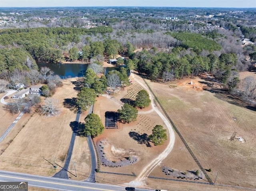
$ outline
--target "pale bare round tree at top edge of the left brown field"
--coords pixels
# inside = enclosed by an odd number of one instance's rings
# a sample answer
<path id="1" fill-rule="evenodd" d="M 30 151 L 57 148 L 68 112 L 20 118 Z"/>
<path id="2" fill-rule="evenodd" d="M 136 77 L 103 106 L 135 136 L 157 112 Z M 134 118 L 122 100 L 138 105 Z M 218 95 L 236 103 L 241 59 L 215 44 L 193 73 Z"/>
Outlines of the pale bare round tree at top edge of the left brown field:
<path id="1" fill-rule="evenodd" d="M 53 98 L 46 98 L 44 104 L 40 108 L 40 113 L 47 116 L 54 116 L 58 114 L 59 108 L 57 100 Z"/>

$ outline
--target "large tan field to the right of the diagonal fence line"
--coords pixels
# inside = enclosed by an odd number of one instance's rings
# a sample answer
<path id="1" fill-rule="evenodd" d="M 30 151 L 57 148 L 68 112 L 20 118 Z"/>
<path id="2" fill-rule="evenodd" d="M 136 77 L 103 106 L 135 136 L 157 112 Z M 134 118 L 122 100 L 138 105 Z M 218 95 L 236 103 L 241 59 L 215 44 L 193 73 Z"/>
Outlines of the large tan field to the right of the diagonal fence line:
<path id="1" fill-rule="evenodd" d="M 220 95 L 211 93 L 204 79 L 192 81 L 199 87 L 194 89 L 190 79 L 169 84 L 147 82 L 202 166 L 212 169 L 208 175 L 213 181 L 218 172 L 216 183 L 255 188 L 256 112 L 222 100 Z M 230 140 L 234 134 L 234 140 Z M 186 163 L 181 164 L 172 153 L 163 164 L 186 170 Z"/>

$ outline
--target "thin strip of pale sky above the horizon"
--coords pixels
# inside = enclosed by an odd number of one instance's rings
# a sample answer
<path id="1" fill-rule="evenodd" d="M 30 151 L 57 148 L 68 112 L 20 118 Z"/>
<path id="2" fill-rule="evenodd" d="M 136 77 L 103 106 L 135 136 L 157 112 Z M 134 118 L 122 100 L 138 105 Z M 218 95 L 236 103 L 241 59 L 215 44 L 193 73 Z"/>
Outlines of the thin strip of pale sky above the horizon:
<path id="1" fill-rule="evenodd" d="M 0 0 L 0 7 L 157 6 L 255 8 L 256 0 Z"/>

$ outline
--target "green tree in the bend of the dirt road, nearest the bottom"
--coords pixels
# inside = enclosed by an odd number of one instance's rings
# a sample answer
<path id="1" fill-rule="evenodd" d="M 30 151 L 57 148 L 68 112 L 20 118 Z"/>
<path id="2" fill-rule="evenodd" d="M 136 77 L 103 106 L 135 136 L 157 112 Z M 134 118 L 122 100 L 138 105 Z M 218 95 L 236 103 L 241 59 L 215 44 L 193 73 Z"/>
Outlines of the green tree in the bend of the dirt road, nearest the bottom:
<path id="1" fill-rule="evenodd" d="M 156 125 L 149 138 L 155 146 L 164 144 L 164 141 L 167 140 L 166 129 L 162 125 Z"/>

